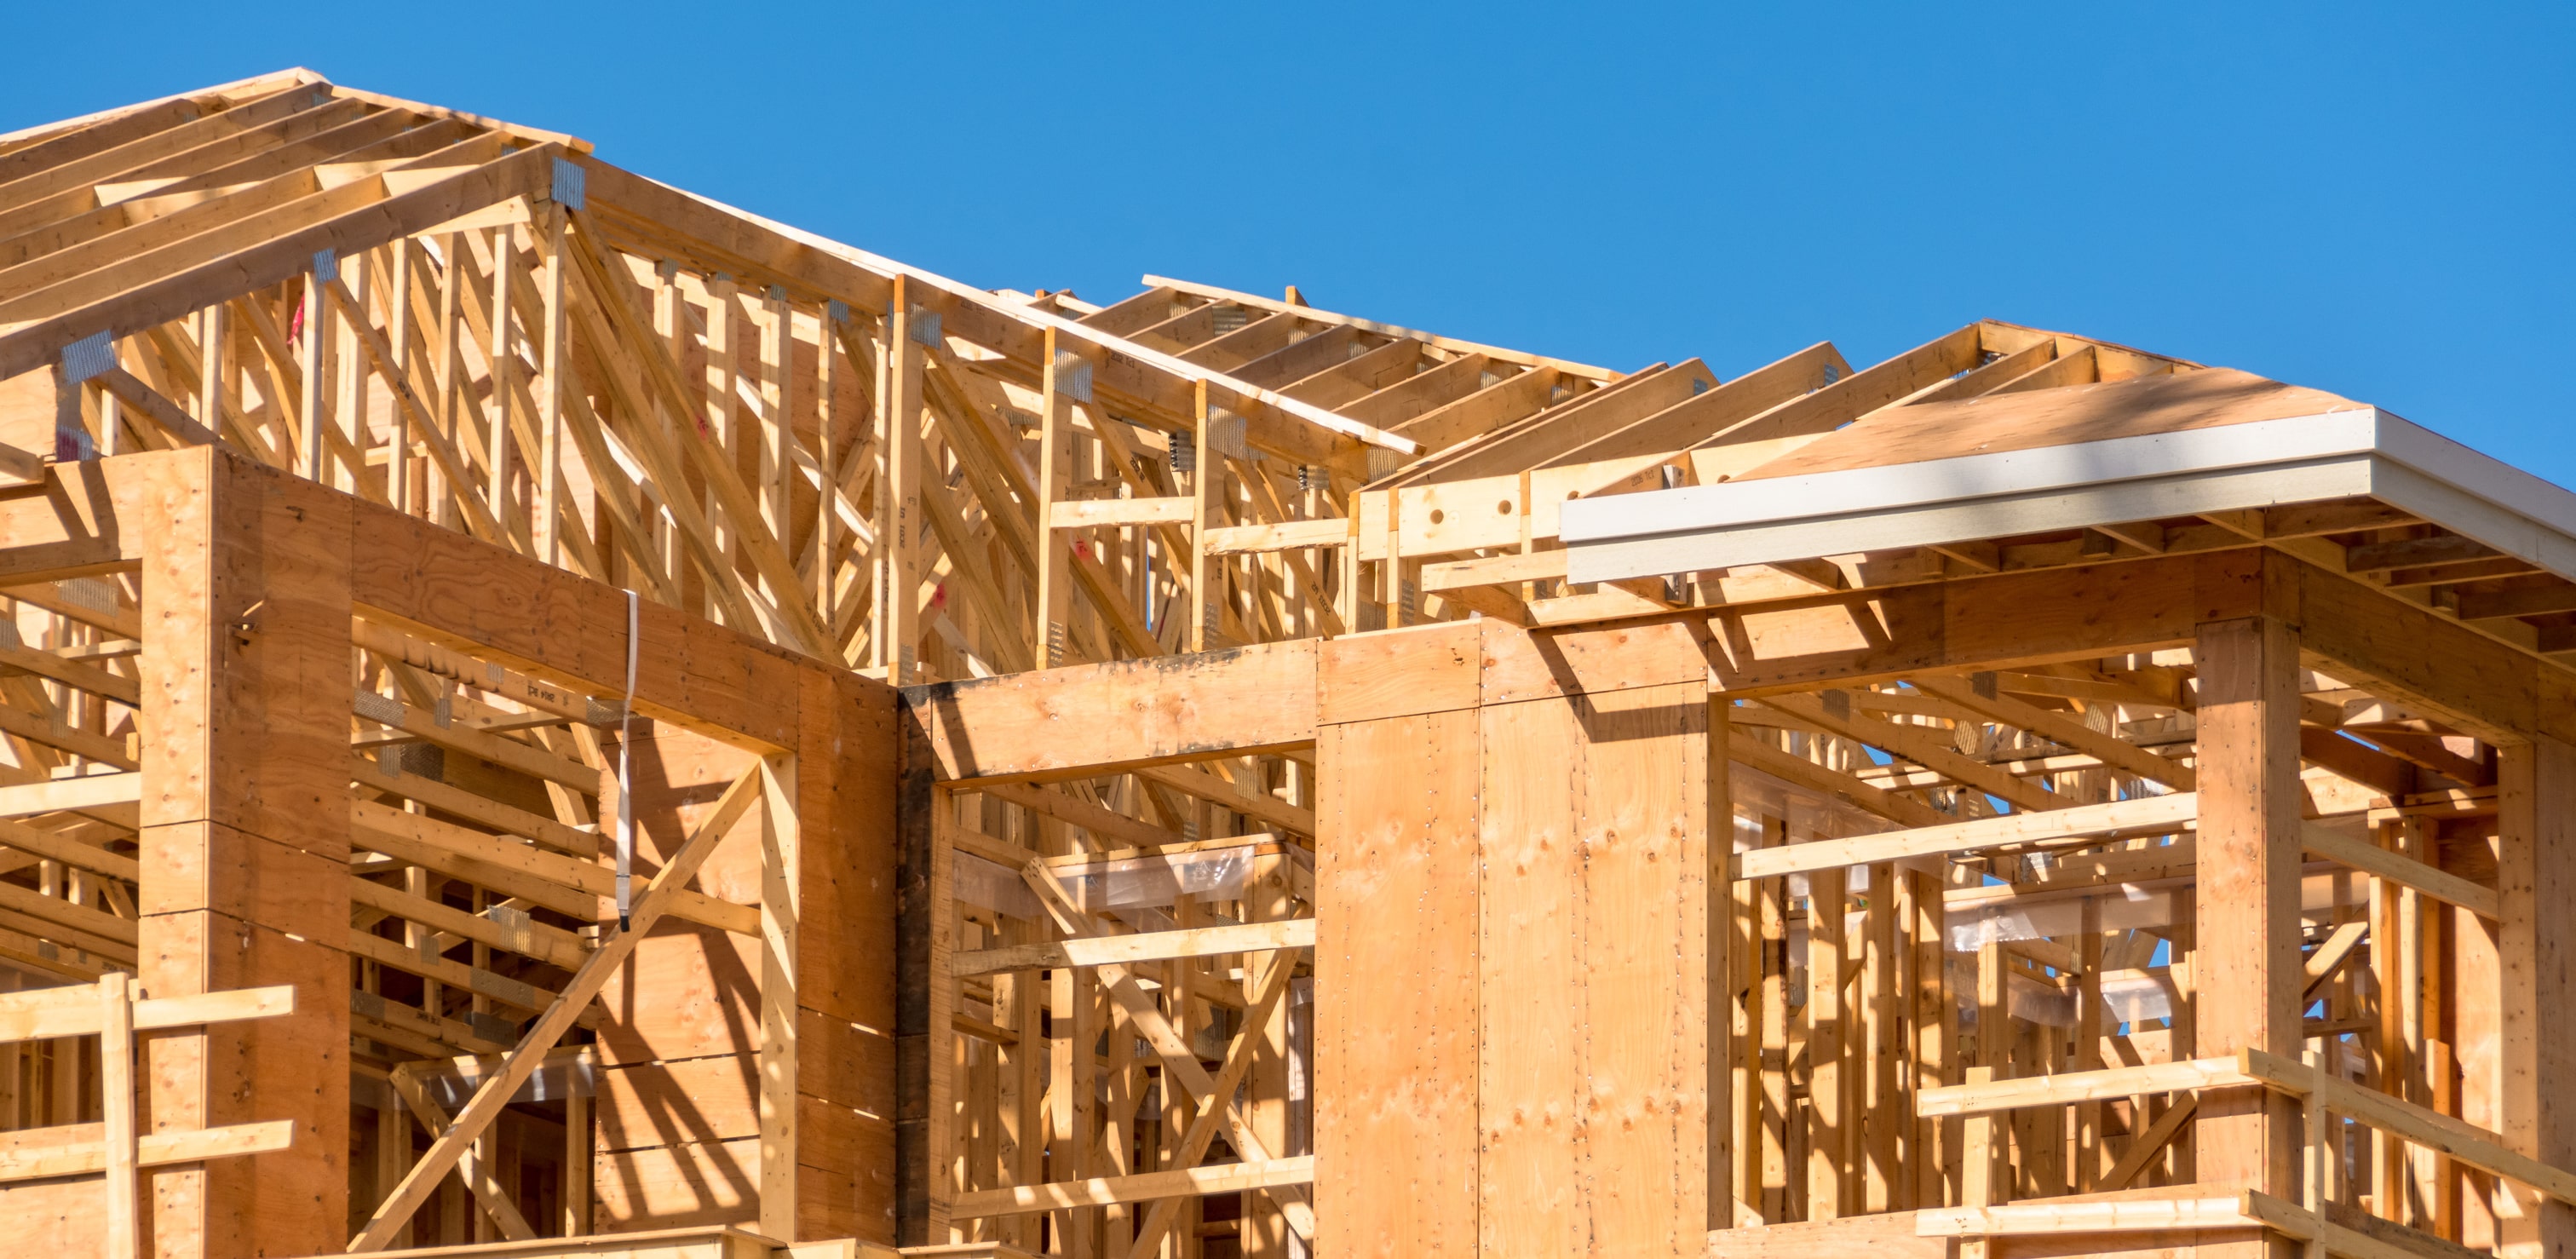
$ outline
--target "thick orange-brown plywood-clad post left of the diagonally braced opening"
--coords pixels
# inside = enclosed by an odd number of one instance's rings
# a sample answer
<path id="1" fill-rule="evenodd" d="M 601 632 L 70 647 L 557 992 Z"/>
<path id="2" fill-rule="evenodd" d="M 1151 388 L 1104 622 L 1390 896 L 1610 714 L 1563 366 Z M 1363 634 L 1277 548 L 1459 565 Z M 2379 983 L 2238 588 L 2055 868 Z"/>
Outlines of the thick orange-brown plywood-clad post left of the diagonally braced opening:
<path id="1" fill-rule="evenodd" d="M 283 1020 L 162 1032 L 152 1125 L 294 1120 L 294 1146 L 152 1169 L 162 1259 L 348 1241 L 350 507 L 214 448 L 124 499 L 144 538 L 142 984 L 291 984 Z"/>

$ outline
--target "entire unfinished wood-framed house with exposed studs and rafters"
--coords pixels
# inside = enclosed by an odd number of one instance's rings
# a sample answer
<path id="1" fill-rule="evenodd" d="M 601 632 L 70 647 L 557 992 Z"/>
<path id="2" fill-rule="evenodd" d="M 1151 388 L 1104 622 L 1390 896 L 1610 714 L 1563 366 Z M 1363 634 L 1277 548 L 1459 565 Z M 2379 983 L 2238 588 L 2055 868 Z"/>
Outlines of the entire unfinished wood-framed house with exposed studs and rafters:
<path id="1" fill-rule="evenodd" d="M 2576 494 L 1976 322 L 981 291 L 283 72 L 0 136 L 62 1256 L 2576 1254 Z"/>

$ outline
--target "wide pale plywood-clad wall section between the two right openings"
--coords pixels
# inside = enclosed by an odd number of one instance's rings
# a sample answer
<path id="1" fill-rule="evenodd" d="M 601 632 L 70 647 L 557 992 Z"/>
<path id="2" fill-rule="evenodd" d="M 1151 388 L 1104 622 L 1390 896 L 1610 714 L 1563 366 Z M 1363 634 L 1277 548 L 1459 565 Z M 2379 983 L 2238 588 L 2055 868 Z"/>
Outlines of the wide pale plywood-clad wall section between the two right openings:
<path id="1" fill-rule="evenodd" d="M 1577 654 L 1520 633 L 1319 657 L 1340 687 L 1316 734 L 1321 1246 L 1473 1228 L 1479 1254 L 1700 1254 L 1708 690 L 1692 672 L 1494 703 L 1497 659 Z M 1406 690 L 1409 657 L 1370 639 L 1425 649 L 1427 680 Z M 1479 703 L 1453 708 L 1468 682 Z"/>

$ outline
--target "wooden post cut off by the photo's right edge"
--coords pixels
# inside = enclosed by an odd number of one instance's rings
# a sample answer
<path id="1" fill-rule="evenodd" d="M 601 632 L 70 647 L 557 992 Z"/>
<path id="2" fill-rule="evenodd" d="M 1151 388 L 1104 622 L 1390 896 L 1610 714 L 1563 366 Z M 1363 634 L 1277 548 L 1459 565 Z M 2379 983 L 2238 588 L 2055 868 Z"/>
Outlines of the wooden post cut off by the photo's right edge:
<path id="1" fill-rule="evenodd" d="M 2576 747 L 2545 736 L 2504 747 L 2496 785 L 2504 1141 L 2545 1164 L 2576 1166 L 2576 919 L 2568 914 L 2576 904 Z M 2496 1202 L 2496 1254 L 2576 1254 L 2576 1208 L 2499 1187 L 2504 1192 L 2514 1200 Z"/>

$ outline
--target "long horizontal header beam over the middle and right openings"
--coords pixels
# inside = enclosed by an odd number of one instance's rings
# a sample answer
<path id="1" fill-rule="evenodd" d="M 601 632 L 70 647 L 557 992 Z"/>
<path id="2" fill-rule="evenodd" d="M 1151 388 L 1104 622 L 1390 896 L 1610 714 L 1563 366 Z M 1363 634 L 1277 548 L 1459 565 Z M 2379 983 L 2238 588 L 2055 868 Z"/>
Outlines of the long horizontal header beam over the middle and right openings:
<path id="1" fill-rule="evenodd" d="M 1345 662 L 1381 659 L 1378 677 L 1350 664 L 1319 677 L 1316 646 L 1298 641 L 940 682 L 907 690 L 904 708 L 940 783 L 1064 780 L 1303 747 L 1334 711 L 1468 708 L 1494 703 L 1497 687 L 1602 690 L 1700 669 L 1713 693 L 1759 698 L 2187 646 L 2200 623 L 2241 615 L 2300 626 L 2329 672 L 2385 687 L 2483 739 L 2576 736 L 2576 677 L 2566 669 L 2275 551 L 1968 577 L 1607 626 L 1445 620 L 1365 633 L 1337 651 Z M 1494 659 L 1466 669 L 1471 654 Z"/>

